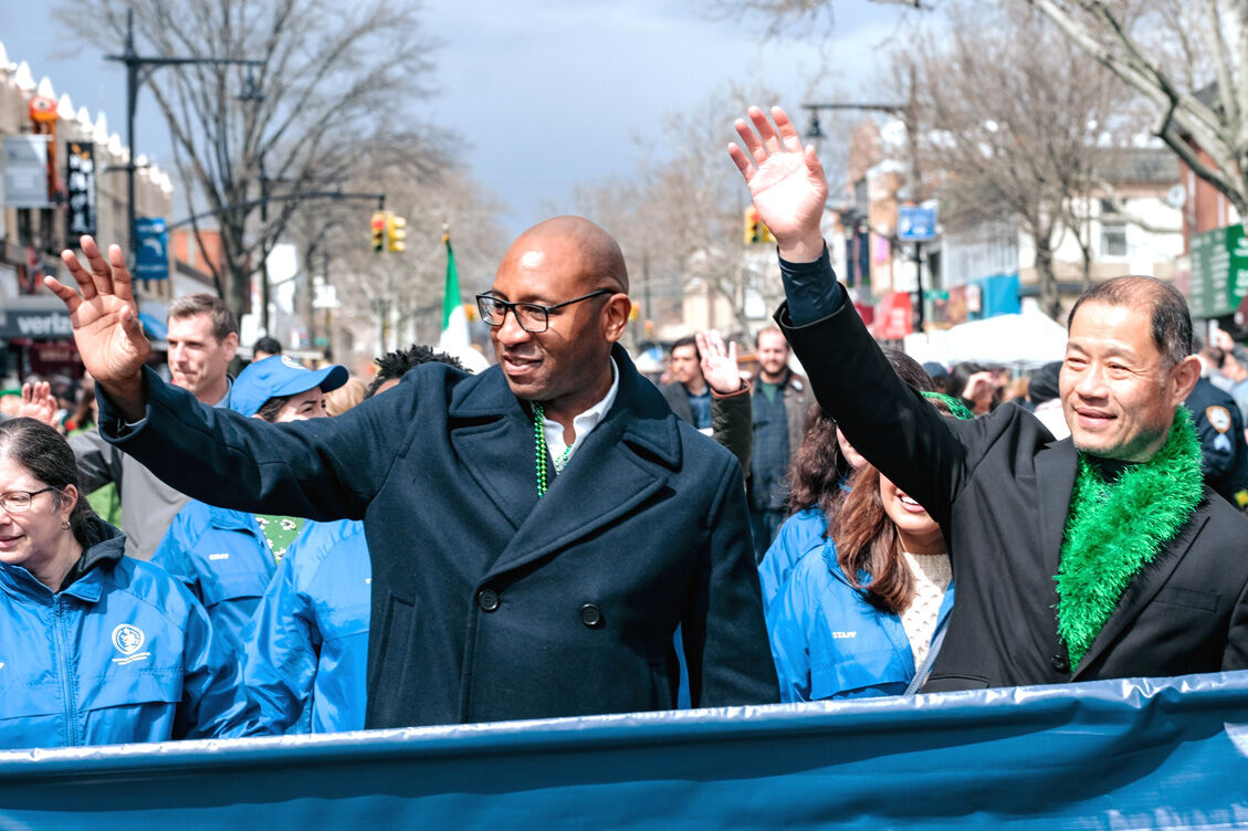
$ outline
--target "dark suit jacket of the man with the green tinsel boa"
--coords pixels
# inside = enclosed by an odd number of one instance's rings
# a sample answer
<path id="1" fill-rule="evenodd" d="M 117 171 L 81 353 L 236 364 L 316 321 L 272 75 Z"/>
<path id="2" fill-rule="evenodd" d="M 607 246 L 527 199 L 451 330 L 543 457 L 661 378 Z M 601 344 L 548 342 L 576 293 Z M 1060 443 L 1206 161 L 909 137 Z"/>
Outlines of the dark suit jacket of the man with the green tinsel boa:
<path id="1" fill-rule="evenodd" d="M 940 522 L 957 601 L 925 691 L 1248 668 L 1248 520 L 1206 488 L 1127 586 L 1078 666 L 1057 636 L 1058 558 L 1077 455 L 1012 404 L 942 418 L 902 384 L 854 307 L 776 319 L 819 403 L 862 455 Z"/>

